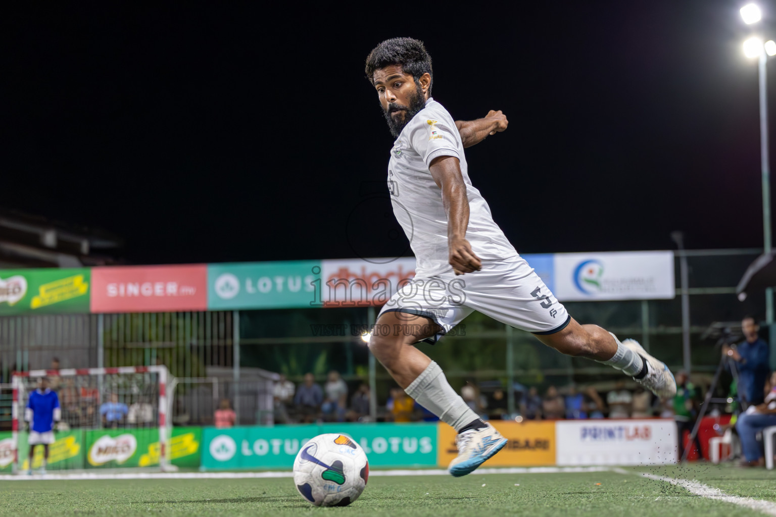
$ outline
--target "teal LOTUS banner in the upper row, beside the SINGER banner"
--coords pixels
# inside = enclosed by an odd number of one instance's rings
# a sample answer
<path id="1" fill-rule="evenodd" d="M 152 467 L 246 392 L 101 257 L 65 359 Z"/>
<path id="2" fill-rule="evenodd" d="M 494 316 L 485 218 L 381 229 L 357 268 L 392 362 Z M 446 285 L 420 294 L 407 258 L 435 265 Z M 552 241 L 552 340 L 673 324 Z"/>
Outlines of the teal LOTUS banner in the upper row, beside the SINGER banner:
<path id="1" fill-rule="evenodd" d="M 318 305 L 310 305 L 315 302 Z M 207 266 L 207 308 L 211 311 L 321 305 L 320 260 Z"/>

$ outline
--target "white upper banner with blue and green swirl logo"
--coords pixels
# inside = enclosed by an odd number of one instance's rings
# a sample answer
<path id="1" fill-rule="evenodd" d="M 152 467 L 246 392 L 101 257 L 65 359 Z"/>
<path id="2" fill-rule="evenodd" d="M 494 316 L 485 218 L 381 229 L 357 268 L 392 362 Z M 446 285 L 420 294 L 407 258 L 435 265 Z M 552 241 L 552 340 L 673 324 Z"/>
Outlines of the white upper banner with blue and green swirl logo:
<path id="1" fill-rule="evenodd" d="M 676 294 L 674 253 L 556 253 L 553 293 L 561 302 L 670 299 Z"/>

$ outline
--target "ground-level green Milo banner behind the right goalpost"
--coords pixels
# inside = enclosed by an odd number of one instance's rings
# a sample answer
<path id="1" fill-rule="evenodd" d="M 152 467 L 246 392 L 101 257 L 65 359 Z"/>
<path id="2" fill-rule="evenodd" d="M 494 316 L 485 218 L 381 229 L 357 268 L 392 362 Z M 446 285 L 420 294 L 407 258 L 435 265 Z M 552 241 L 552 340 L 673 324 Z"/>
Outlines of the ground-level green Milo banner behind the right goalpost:
<path id="1" fill-rule="evenodd" d="M 168 442 L 170 463 L 199 466 L 199 427 L 175 427 Z M 102 429 L 85 432 L 85 467 L 154 467 L 159 464 L 159 430 Z"/>

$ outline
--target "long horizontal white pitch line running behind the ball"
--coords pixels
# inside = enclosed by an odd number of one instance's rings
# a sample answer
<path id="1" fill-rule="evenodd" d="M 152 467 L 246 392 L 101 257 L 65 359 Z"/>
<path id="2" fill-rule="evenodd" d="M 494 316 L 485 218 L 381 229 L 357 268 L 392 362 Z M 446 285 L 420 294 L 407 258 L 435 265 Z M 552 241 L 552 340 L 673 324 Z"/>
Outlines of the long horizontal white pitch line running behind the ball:
<path id="1" fill-rule="evenodd" d="M 558 474 L 561 472 L 606 472 L 610 467 L 514 467 L 481 468 L 476 474 Z M 379 476 L 449 476 L 447 470 L 370 470 L 369 477 Z M 262 477 L 293 477 L 287 470 L 271 472 L 71 472 L 65 474 L 3 474 L 0 481 L 94 481 L 111 479 L 257 479 Z"/>

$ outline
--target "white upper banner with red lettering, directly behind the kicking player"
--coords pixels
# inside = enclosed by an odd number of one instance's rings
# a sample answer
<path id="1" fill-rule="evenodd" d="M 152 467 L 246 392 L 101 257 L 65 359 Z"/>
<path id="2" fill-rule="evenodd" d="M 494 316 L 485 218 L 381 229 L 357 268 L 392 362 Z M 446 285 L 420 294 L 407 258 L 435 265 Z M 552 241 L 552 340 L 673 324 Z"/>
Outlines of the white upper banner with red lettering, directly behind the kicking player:
<path id="1" fill-rule="evenodd" d="M 382 305 L 415 276 L 415 257 L 321 260 L 324 307 Z"/>

